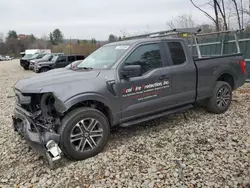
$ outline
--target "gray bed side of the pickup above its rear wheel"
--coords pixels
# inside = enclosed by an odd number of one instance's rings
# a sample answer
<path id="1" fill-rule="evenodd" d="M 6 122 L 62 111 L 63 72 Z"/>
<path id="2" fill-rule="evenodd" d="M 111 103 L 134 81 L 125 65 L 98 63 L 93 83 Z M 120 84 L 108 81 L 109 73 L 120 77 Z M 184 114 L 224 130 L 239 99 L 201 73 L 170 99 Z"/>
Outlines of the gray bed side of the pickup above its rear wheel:
<path id="1" fill-rule="evenodd" d="M 207 56 L 203 58 L 193 58 L 196 65 L 197 75 L 197 100 L 210 97 L 216 80 L 225 75 L 232 78 L 232 89 L 242 86 L 246 79 L 246 74 L 242 73 L 238 62 L 244 60 L 243 54 L 228 54 L 219 56 Z"/>

